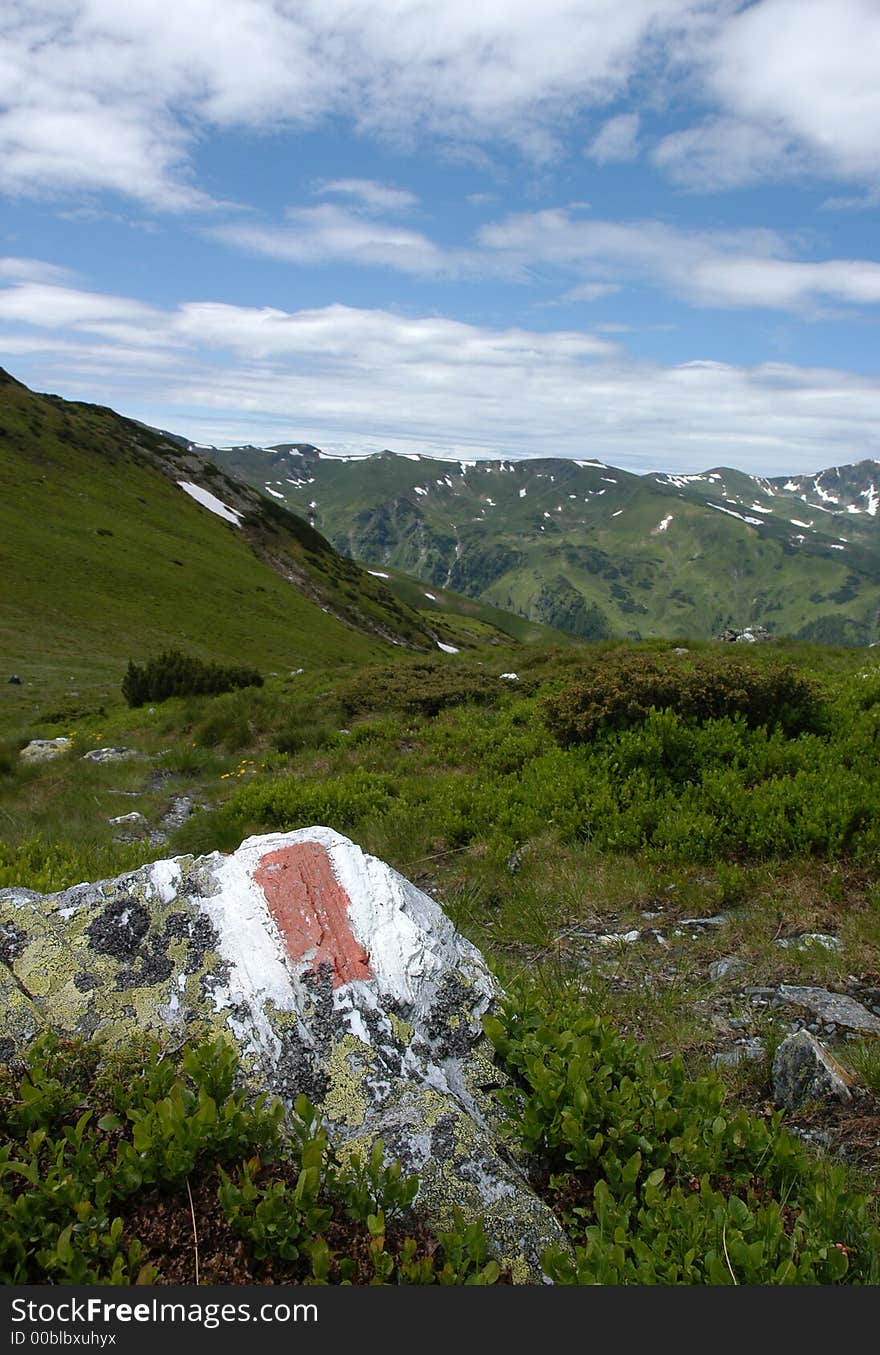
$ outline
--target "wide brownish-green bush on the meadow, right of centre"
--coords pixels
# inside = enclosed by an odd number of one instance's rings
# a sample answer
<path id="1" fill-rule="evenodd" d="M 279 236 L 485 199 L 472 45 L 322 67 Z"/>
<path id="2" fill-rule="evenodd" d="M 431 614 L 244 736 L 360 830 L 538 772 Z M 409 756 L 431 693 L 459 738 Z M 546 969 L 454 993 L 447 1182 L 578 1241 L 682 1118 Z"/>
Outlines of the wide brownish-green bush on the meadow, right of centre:
<path id="1" fill-rule="evenodd" d="M 816 729 L 822 714 L 815 684 L 791 664 L 629 652 L 609 656 L 587 680 L 545 702 L 548 725 L 563 744 L 631 729 L 651 710 L 673 710 L 687 722 L 742 715 L 750 728 L 778 728 L 789 737 Z"/>

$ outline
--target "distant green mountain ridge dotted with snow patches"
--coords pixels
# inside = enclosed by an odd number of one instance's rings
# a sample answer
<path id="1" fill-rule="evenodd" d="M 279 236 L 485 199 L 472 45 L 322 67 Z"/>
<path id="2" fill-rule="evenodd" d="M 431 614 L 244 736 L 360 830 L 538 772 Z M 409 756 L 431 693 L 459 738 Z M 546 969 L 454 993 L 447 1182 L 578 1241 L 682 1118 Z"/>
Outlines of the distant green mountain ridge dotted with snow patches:
<path id="1" fill-rule="evenodd" d="M 201 447 L 343 554 L 586 638 L 763 625 L 880 637 L 880 463 L 757 477 L 633 474 L 597 459 L 442 461 L 311 443 Z"/>

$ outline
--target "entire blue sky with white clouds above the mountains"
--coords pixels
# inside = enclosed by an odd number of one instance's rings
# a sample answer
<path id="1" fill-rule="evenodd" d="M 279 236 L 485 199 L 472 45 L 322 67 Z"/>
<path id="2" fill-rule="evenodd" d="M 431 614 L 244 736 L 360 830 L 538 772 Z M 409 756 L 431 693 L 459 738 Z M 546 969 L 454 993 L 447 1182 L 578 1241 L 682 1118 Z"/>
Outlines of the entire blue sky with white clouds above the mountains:
<path id="1" fill-rule="evenodd" d="M 880 459 L 880 0 L 4 0 L 0 364 L 199 443 Z"/>

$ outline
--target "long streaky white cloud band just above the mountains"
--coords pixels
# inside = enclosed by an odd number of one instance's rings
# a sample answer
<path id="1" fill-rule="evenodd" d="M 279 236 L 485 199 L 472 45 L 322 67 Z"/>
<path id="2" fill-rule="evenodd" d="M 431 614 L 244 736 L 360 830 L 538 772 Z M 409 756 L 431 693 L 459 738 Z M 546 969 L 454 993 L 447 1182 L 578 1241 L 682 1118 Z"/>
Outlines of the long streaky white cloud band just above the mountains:
<path id="1" fill-rule="evenodd" d="M 38 389 L 198 442 L 591 455 L 633 470 L 725 463 L 761 474 L 822 469 L 839 459 L 834 447 L 880 457 L 875 379 L 782 363 L 660 366 L 578 331 L 350 306 L 159 310 L 24 283 L 0 291 L 0 348 L 20 356 L 15 375 Z"/>

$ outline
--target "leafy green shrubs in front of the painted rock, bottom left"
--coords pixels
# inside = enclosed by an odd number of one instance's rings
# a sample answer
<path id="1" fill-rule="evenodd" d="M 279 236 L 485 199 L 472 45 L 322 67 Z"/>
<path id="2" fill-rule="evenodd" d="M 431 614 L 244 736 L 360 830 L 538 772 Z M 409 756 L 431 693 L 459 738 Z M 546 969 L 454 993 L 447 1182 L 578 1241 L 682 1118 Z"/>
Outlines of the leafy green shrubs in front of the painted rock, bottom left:
<path id="1" fill-rule="evenodd" d="M 385 1161 L 381 1141 L 340 1161 L 305 1096 L 287 1117 L 239 1083 L 222 1039 L 176 1058 L 153 1041 L 107 1057 L 37 1039 L 0 1075 L 0 1283 L 153 1283 L 161 1257 L 157 1268 L 133 1230 L 138 1195 L 172 1199 L 214 1177 L 251 1256 L 298 1282 L 495 1283 L 481 1225 L 458 1217 L 426 1236 L 418 1180 Z"/>

